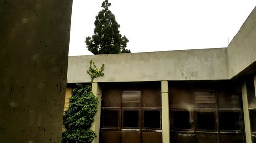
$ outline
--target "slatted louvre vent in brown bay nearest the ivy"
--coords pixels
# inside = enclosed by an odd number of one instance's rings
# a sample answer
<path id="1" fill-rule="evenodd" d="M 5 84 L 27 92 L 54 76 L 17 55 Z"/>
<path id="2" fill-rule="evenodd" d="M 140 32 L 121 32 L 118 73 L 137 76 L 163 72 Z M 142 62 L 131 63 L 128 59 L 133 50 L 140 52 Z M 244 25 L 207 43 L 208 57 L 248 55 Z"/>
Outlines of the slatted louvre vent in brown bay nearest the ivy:
<path id="1" fill-rule="evenodd" d="M 123 103 L 140 103 L 141 91 L 123 91 L 122 102 Z"/>

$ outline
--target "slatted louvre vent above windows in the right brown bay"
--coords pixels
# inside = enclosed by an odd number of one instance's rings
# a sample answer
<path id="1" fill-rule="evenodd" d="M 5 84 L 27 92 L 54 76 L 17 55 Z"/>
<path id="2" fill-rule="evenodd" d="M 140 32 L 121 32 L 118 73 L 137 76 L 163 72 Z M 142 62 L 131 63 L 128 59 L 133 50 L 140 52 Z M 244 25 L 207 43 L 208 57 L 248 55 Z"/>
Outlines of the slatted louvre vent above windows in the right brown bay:
<path id="1" fill-rule="evenodd" d="M 215 103 L 215 91 L 194 91 L 194 103 Z"/>

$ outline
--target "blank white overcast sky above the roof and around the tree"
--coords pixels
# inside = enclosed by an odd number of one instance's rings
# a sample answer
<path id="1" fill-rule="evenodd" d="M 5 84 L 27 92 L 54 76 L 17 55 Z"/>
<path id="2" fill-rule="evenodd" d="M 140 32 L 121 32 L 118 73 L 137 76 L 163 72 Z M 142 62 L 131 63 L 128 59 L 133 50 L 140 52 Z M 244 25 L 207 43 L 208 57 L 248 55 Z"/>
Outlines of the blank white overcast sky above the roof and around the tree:
<path id="1" fill-rule="evenodd" d="M 74 0 L 69 56 L 91 55 L 92 36 L 103 0 Z M 109 0 L 132 53 L 227 47 L 255 0 Z"/>

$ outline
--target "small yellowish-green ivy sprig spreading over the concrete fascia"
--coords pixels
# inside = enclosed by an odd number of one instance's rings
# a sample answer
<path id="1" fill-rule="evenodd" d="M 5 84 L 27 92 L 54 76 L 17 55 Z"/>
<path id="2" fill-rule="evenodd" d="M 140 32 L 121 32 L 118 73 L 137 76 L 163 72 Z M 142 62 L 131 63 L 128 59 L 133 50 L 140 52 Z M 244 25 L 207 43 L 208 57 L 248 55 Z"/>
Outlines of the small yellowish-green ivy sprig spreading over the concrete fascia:
<path id="1" fill-rule="evenodd" d="M 93 67 L 92 67 L 92 64 L 93 64 Z M 105 64 L 102 64 L 102 65 L 101 65 L 101 68 L 100 68 L 100 70 L 99 70 L 99 69 L 97 69 L 97 67 L 95 66 L 94 62 L 93 62 L 92 60 L 90 61 L 90 67 L 89 67 L 89 71 L 87 71 L 87 73 L 88 73 L 88 74 L 90 75 L 90 77 L 91 77 L 91 82 L 93 82 L 94 78 L 104 75 L 104 73 L 102 73 L 103 70 L 104 70 L 104 66 L 105 66 Z"/>

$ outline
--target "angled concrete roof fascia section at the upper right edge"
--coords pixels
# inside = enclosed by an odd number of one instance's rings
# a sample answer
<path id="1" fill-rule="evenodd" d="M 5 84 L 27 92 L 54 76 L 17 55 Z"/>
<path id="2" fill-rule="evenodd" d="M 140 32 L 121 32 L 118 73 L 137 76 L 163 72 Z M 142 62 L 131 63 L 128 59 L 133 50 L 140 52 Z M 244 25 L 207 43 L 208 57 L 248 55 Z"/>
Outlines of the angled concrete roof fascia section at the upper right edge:
<path id="1" fill-rule="evenodd" d="M 256 8 L 228 45 L 227 53 L 230 78 L 256 61 Z"/>

